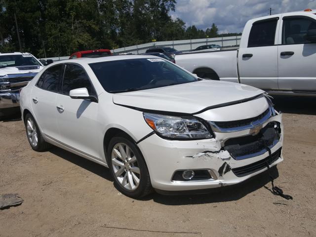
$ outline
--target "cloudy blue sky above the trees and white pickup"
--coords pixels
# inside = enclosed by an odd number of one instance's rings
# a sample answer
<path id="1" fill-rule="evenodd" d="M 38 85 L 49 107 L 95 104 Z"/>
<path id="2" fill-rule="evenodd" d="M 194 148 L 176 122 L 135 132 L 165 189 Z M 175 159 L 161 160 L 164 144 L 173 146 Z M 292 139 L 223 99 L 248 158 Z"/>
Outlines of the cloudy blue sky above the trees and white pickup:
<path id="1" fill-rule="evenodd" d="M 173 19 L 179 17 L 186 26 L 210 28 L 212 23 L 219 33 L 242 32 L 245 23 L 253 18 L 306 8 L 316 9 L 316 0 L 177 0 Z"/>

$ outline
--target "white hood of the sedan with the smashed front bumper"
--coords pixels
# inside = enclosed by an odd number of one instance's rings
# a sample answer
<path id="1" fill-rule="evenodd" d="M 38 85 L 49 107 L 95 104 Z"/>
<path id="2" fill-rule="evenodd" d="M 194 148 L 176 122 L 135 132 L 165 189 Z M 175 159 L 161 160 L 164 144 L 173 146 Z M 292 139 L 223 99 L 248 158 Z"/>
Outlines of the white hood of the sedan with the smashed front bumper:
<path id="1" fill-rule="evenodd" d="M 258 88 L 234 82 L 201 80 L 113 95 L 118 105 L 145 110 L 195 114 L 208 107 L 225 106 L 264 93 Z"/>

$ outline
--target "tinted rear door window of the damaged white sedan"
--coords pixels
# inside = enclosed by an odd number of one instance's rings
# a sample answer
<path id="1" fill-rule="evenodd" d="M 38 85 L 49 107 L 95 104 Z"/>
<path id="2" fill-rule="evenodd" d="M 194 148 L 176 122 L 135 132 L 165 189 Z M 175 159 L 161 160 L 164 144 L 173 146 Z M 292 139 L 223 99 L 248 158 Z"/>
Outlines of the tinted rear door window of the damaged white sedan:
<path id="1" fill-rule="evenodd" d="M 43 90 L 58 92 L 62 69 L 63 64 L 59 64 L 45 70 L 45 72 L 43 72 L 40 76 L 37 86 Z"/>

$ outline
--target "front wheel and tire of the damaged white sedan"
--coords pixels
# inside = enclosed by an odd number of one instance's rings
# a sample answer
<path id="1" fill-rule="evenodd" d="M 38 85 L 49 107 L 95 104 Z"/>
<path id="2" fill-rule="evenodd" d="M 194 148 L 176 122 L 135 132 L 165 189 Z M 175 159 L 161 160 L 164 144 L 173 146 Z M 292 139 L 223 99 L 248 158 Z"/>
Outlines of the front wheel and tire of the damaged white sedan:
<path id="1" fill-rule="evenodd" d="M 123 135 L 114 137 L 109 143 L 107 155 L 114 186 L 119 192 L 132 198 L 144 197 L 151 193 L 152 185 L 147 165 L 134 142 Z"/>

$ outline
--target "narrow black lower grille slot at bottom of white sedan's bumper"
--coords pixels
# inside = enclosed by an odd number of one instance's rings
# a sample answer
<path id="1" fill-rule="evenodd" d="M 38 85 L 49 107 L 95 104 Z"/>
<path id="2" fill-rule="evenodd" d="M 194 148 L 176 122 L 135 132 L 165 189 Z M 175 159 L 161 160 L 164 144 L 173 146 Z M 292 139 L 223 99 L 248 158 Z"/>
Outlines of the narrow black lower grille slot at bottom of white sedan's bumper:
<path id="1" fill-rule="evenodd" d="M 243 177 L 252 173 L 255 173 L 265 167 L 267 167 L 267 163 L 270 165 L 275 162 L 281 156 L 282 148 L 279 148 L 276 152 L 274 152 L 271 156 L 261 159 L 252 164 L 248 164 L 245 166 L 233 168 L 232 171 L 237 177 Z"/>

